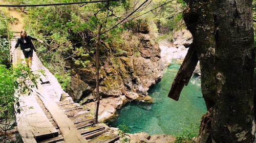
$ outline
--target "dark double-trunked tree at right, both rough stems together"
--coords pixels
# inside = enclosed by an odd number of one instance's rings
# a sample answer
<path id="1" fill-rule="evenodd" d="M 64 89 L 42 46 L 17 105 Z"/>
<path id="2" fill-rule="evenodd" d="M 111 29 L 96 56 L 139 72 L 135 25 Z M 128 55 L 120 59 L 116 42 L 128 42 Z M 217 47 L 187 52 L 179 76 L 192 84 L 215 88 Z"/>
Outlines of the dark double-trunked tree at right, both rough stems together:
<path id="1" fill-rule="evenodd" d="M 196 141 L 253 142 L 252 1 L 187 3 L 184 20 L 197 48 L 207 109 L 212 109 Z"/>

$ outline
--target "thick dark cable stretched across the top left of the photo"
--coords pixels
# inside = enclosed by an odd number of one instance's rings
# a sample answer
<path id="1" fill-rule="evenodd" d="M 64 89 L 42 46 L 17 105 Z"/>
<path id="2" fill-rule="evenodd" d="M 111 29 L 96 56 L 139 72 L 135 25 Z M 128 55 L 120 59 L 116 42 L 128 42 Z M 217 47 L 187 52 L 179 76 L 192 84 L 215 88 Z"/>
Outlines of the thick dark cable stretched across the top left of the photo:
<path id="1" fill-rule="evenodd" d="M 59 5 L 76 5 L 76 4 L 88 4 L 88 3 L 101 3 L 112 1 L 124 1 L 124 0 L 102 0 L 102 1 L 90 1 L 90 2 L 76 2 L 76 3 L 59 3 L 59 4 L 40 4 L 40 5 L 0 5 L 0 7 L 45 7 L 45 6 L 59 6 Z"/>

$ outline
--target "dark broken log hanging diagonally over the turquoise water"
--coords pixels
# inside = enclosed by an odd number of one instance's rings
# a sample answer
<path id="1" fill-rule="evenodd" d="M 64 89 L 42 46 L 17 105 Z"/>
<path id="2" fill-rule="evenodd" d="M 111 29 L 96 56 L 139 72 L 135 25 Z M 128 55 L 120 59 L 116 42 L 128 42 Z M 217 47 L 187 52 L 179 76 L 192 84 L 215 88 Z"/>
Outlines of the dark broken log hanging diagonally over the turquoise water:
<path id="1" fill-rule="evenodd" d="M 172 88 L 170 89 L 168 94 L 169 98 L 172 98 L 176 101 L 179 100 L 180 93 L 184 85 L 188 84 L 188 81 L 191 78 L 197 66 L 197 63 L 198 63 L 197 52 L 195 50 L 194 44 L 192 43 L 173 81 Z"/>

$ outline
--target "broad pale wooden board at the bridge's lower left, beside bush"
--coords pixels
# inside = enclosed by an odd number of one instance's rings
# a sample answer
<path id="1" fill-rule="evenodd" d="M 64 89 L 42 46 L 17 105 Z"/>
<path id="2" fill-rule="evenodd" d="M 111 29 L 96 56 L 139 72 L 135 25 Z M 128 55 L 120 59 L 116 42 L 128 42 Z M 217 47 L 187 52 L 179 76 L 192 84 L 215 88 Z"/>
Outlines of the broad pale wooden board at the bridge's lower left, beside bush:
<path id="1" fill-rule="evenodd" d="M 17 128 L 22 136 L 30 136 L 30 138 L 33 137 L 36 139 L 42 139 L 58 135 L 57 130 L 50 123 L 44 111 L 42 111 L 39 104 L 37 103 L 33 94 L 30 96 L 22 95 L 19 99 L 20 105 L 23 106 L 24 111 L 20 114 L 22 116 L 17 115 L 16 118 Z M 27 138 L 25 140 L 27 140 Z"/>

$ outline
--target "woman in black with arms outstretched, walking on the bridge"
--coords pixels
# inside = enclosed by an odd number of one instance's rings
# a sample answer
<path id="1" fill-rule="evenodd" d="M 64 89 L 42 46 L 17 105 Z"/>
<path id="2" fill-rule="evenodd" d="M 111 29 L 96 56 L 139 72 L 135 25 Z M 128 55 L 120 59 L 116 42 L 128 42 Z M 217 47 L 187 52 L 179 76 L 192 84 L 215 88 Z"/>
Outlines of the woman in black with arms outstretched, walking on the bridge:
<path id="1" fill-rule="evenodd" d="M 28 64 L 29 68 L 31 68 L 31 65 L 32 65 L 33 50 L 35 49 L 31 40 L 37 40 L 40 43 L 43 42 L 42 40 L 27 36 L 27 32 L 25 30 L 23 30 L 22 32 L 20 32 L 20 38 L 18 39 L 18 41 L 15 45 L 15 49 L 16 49 L 18 47 L 18 45 L 20 44 L 20 48 L 22 49 L 22 51 L 24 53 L 25 61 Z M 13 52 L 15 51 L 15 49 L 13 50 Z"/>

